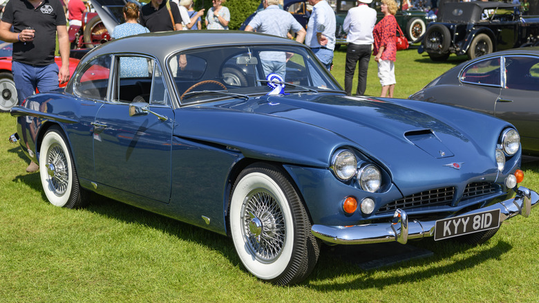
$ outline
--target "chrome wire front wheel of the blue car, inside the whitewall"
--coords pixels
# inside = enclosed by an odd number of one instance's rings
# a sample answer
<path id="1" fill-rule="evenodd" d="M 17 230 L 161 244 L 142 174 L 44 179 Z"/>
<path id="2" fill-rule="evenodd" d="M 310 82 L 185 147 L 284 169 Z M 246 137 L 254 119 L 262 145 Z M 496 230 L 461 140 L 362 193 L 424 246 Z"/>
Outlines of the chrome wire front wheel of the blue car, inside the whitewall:
<path id="1" fill-rule="evenodd" d="M 241 211 L 243 235 L 248 249 L 261 262 L 272 262 L 285 244 L 285 221 L 281 207 L 267 190 L 245 198 Z"/>

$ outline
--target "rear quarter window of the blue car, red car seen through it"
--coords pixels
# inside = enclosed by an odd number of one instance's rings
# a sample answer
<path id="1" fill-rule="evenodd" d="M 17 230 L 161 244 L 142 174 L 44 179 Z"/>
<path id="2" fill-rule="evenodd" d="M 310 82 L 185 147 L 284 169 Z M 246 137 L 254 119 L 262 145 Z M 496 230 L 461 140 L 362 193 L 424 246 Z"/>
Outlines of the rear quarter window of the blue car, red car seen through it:
<path id="1" fill-rule="evenodd" d="M 75 93 L 83 98 L 105 100 L 111 62 L 111 55 L 97 57 L 88 62 L 77 75 L 74 87 Z"/>

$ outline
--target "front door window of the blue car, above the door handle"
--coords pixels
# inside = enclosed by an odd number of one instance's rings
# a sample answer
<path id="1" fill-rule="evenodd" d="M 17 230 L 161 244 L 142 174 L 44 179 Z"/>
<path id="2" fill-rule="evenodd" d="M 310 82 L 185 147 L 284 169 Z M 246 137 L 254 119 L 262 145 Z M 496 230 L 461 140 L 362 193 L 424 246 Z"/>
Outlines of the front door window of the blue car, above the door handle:
<path id="1" fill-rule="evenodd" d="M 142 56 L 117 56 L 113 101 L 149 102 L 154 60 Z"/>

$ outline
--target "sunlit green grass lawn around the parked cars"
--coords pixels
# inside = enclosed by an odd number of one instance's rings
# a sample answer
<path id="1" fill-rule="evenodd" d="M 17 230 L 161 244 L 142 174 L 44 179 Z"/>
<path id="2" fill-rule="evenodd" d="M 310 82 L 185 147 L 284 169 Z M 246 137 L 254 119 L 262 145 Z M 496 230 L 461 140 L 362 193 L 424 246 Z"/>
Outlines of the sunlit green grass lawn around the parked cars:
<path id="1" fill-rule="evenodd" d="M 343 52 L 334 75 L 343 82 Z M 340 64 L 339 64 L 340 62 Z M 371 61 L 371 64 L 375 63 Z M 397 57 L 402 97 L 458 62 L 433 64 L 415 50 Z M 368 94 L 379 93 L 376 66 Z M 537 302 L 539 209 L 516 217 L 483 246 L 431 239 L 413 245 L 433 257 L 363 271 L 325 247 L 299 286 L 258 281 L 230 239 L 94 197 L 84 210 L 46 202 L 39 174 L 6 140 L 15 118 L 0 113 L 0 302 Z M 524 165 L 539 189 L 539 163 Z"/>

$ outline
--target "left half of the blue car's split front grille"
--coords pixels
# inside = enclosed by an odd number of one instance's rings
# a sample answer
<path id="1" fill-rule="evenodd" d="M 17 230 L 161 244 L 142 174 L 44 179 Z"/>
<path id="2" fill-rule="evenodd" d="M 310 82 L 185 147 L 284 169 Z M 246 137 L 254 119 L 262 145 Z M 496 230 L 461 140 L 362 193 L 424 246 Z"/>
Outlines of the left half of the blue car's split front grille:
<path id="1" fill-rule="evenodd" d="M 399 199 L 384 205 L 377 213 L 390 212 L 400 208 L 407 210 L 410 208 L 420 208 L 422 206 L 438 206 L 448 205 L 453 201 L 455 187 L 443 187 L 435 190 L 427 190 L 419 192 L 411 196 L 406 196 L 404 199 Z"/>

